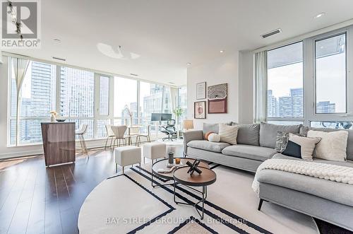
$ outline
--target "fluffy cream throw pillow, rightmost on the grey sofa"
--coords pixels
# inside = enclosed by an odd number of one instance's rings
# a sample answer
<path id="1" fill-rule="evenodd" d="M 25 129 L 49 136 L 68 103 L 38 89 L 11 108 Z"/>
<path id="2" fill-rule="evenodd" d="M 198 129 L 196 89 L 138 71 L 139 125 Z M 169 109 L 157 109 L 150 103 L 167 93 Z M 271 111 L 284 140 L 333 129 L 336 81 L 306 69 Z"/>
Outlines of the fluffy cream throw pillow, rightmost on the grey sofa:
<path id="1" fill-rule="evenodd" d="M 307 136 L 321 137 L 321 141 L 314 151 L 315 158 L 333 161 L 345 161 L 347 159 L 348 131 L 325 132 L 309 130 Z"/>

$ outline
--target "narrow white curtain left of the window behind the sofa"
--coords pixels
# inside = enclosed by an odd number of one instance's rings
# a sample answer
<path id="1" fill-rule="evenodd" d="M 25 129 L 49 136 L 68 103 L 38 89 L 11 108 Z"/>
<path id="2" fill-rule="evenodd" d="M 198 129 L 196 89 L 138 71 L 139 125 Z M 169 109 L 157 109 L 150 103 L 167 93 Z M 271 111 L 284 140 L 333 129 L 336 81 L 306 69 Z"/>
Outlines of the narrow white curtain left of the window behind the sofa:
<path id="1" fill-rule="evenodd" d="M 255 54 L 255 105 L 254 122 L 265 121 L 267 102 L 267 52 Z"/>

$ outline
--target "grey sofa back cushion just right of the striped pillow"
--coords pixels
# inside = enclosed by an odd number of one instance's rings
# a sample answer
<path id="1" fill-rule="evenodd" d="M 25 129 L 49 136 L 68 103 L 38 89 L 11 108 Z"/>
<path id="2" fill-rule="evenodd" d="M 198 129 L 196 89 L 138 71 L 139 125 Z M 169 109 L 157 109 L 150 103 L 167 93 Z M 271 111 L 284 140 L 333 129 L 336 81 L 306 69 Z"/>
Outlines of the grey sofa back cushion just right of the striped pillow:
<path id="1" fill-rule="evenodd" d="M 233 125 L 233 124 L 232 124 Z M 260 124 L 234 124 L 239 126 L 238 144 L 260 146 L 258 137 L 260 134 Z"/>

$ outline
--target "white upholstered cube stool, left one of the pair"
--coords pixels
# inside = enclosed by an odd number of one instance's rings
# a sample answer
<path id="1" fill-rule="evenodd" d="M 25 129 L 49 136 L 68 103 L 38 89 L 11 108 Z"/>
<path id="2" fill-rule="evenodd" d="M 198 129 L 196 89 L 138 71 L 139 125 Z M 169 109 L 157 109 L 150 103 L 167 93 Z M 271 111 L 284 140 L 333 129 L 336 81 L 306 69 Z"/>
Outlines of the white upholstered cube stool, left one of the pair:
<path id="1" fill-rule="evenodd" d="M 135 163 L 141 164 L 141 148 L 137 146 L 123 146 L 114 148 L 115 172 L 118 172 L 118 165 L 124 167 Z"/>

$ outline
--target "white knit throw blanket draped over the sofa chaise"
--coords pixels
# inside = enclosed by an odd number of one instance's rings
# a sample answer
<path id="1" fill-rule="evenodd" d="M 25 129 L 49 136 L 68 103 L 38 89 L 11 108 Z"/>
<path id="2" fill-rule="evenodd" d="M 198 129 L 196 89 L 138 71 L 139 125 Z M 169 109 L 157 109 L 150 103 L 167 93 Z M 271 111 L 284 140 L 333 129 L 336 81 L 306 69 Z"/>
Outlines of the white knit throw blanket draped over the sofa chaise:
<path id="1" fill-rule="evenodd" d="M 331 165 L 326 163 L 314 163 L 304 160 L 290 160 L 271 158 L 265 160 L 256 170 L 255 177 L 253 178 L 253 191 L 258 194 L 258 172 L 265 169 L 282 170 L 285 172 L 292 172 L 301 175 L 308 175 L 324 180 L 331 180 L 353 185 L 353 168 L 345 167 L 342 165 Z"/>

